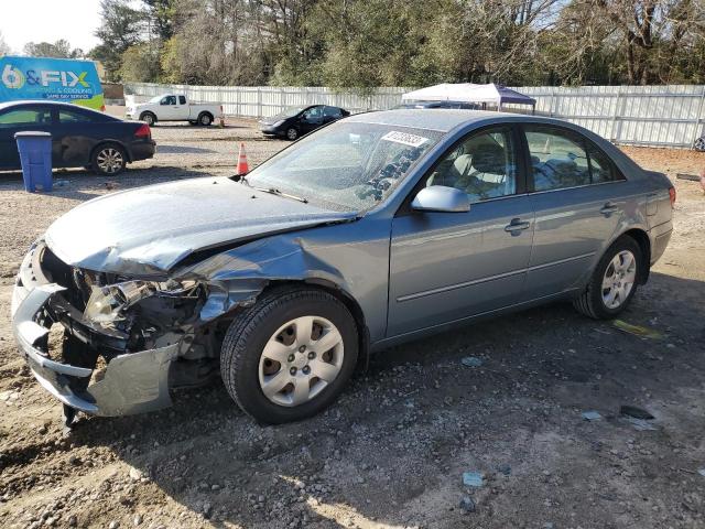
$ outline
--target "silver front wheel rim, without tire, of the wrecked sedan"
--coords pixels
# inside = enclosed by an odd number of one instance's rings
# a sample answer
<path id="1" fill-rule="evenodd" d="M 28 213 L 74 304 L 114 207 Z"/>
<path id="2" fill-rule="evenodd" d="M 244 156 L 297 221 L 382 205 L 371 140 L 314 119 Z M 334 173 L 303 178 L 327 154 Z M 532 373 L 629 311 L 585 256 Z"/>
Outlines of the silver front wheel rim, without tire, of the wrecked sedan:
<path id="1" fill-rule="evenodd" d="M 260 356 L 260 388 L 275 404 L 303 404 L 336 379 L 343 356 L 343 336 L 330 321 L 296 317 L 267 342 Z"/>

